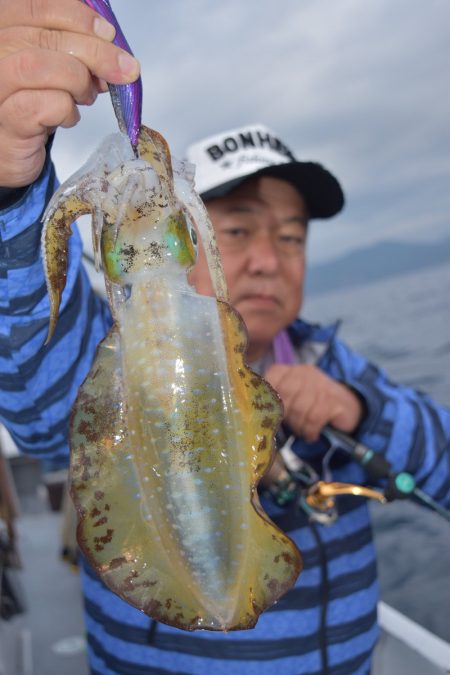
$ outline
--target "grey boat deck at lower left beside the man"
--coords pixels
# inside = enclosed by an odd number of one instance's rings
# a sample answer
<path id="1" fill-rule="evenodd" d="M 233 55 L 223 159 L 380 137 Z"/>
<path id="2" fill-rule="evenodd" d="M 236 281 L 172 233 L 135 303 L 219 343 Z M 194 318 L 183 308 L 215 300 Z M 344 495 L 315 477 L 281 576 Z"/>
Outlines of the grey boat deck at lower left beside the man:
<path id="1" fill-rule="evenodd" d="M 17 576 L 27 611 L 0 621 L 0 675 L 88 675 L 79 576 L 60 556 L 61 512 L 43 485 L 33 489 L 26 476 L 22 487 Z"/>

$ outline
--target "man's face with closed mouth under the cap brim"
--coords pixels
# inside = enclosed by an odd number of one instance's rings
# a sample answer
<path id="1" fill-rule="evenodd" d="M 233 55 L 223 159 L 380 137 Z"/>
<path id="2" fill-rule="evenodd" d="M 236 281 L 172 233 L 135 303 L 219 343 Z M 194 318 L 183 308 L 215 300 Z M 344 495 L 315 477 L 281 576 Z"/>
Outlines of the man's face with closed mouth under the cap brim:
<path id="1" fill-rule="evenodd" d="M 247 358 L 261 358 L 273 338 L 298 315 L 303 300 L 306 204 L 286 181 L 247 181 L 206 204 L 217 237 L 230 302 L 249 334 Z M 190 281 L 213 295 L 202 250 Z"/>

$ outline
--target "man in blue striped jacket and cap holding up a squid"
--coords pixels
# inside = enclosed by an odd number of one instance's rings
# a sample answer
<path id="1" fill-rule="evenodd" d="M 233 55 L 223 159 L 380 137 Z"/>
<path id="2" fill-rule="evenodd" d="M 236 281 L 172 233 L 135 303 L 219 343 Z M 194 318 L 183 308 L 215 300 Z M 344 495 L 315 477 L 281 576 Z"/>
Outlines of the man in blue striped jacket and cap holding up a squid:
<path id="1" fill-rule="evenodd" d="M 29 0 L 0 0 L 0 414 L 24 452 L 67 461 L 69 411 L 110 317 L 89 288 L 74 234 L 60 319 L 43 346 L 48 302 L 40 218 L 55 189 L 47 139 L 55 127 L 76 123 L 76 103 L 91 103 L 104 88 L 100 80 L 129 81 L 137 65 L 120 70 L 123 54 L 108 42 L 111 32 L 81 3 L 32 4 L 30 12 Z M 328 446 L 319 434 L 329 423 L 386 455 L 396 470 L 413 472 L 424 490 L 448 504 L 450 413 L 387 381 L 339 342 L 334 329 L 296 319 L 307 223 L 342 207 L 336 179 L 295 161 L 256 125 L 207 139 L 190 158 L 217 231 L 231 300 L 247 324 L 248 359 L 283 399 L 283 433 L 293 455 L 320 472 Z M 192 283 L 210 292 L 202 258 Z M 323 526 L 295 501 L 280 503 L 284 472 L 279 459 L 262 502 L 302 551 L 296 587 L 251 631 L 190 634 L 151 621 L 83 565 L 92 673 L 369 672 L 378 587 L 366 504 L 342 498 L 336 522 Z M 345 458 L 333 474 L 366 478 Z"/>

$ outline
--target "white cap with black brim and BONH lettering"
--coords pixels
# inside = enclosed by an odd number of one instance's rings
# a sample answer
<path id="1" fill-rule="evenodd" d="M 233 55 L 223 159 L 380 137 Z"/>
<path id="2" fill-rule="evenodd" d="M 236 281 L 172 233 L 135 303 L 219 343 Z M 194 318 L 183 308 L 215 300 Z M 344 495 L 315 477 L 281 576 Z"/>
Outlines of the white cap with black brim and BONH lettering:
<path id="1" fill-rule="evenodd" d="M 344 205 L 336 178 L 315 162 L 299 162 L 288 146 L 263 124 L 209 136 L 187 149 L 195 164 L 197 192 L 207 201 L 223 197 L 255 174 L 291 183 L 303 195 L 311 218 L 329 218 Z"/>

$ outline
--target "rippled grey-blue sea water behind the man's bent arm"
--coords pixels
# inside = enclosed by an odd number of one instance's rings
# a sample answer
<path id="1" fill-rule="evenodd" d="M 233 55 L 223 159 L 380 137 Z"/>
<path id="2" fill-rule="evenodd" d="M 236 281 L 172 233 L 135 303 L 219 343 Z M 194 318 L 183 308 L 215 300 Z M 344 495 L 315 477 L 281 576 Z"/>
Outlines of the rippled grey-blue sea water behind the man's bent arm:
<path id="1" fill-rule="evenodd" d="M 450 407 L 450 264 L 312 295 L 303 316 L 395 381 Z M 411 502 L 373 505 L 382 599 L 450 641 L 450 523 Z"/>

